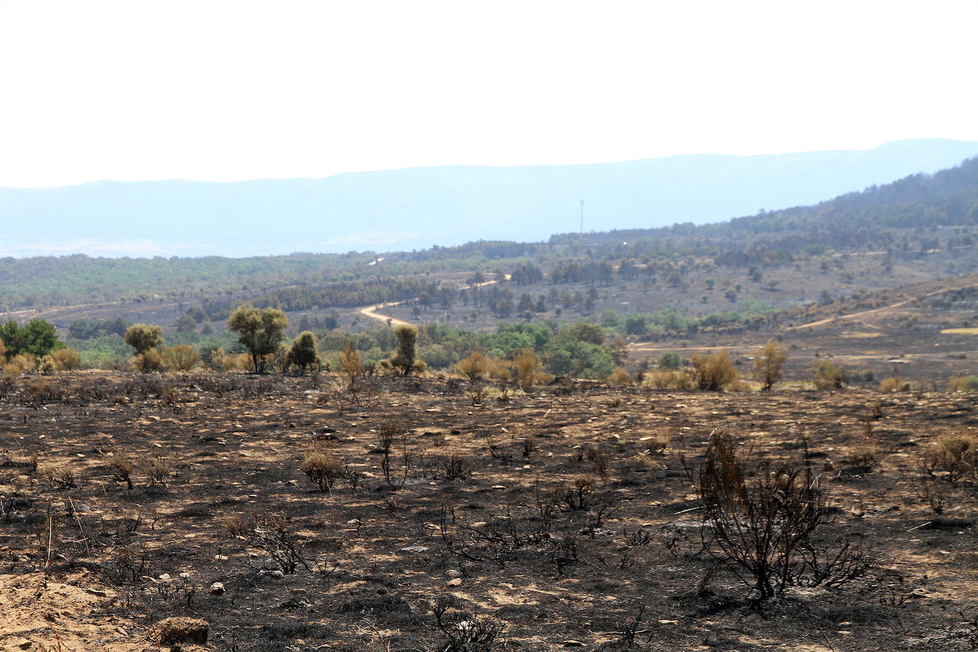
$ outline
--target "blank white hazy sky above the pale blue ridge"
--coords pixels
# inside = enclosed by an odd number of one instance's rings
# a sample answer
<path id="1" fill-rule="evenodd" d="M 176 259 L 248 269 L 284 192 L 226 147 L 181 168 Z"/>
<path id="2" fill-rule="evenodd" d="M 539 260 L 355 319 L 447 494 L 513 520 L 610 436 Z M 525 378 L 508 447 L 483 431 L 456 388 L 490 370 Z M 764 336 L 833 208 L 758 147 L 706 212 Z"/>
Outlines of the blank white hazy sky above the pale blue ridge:
<path id="1" fill-rule="evenodd" d="M 978 2 L 0 0 L 0 186 L 978 141 Z"/>

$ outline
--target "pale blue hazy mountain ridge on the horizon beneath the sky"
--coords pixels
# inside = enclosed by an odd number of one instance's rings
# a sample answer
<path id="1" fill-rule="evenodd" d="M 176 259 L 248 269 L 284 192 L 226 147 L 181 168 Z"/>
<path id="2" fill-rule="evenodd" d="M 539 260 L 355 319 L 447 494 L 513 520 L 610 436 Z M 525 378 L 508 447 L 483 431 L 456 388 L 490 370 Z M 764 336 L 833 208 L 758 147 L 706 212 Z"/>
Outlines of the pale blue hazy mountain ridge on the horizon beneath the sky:
<path id="1" fill-rule="evenodd" d="M 0 189 L 0 255 L 245 256 L 534 241 L 576 231 L 581 199 L 589 232 L 704 224 L 812 204 L 975 154 L 978 143 L 915 140 L 868 151 Z"/>

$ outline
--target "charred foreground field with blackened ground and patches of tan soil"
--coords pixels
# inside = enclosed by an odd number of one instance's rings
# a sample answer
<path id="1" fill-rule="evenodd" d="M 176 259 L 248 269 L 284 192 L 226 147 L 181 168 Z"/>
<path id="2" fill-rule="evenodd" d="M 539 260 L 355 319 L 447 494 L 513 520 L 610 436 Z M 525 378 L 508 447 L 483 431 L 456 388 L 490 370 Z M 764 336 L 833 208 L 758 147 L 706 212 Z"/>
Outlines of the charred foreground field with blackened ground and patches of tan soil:
<path id="1" fill-rule="evenodd" d="M 242 652 L 978 642 L 974 457 L 935 456 L 971 437 L 968 394 L 363 382 L 3 385 L 0 645 L 156 650 L 170 616 L 209 624 L 173 649 Z M 827 497 L 809 543 L 848 540 L 866 562 L 849 581 L 799 574 L 761 600 L 717 565 L 690 479 L 717 429 L 748 483 L 807 459 Z M 314 453 L 335 462 L 322 488 Z"/>

